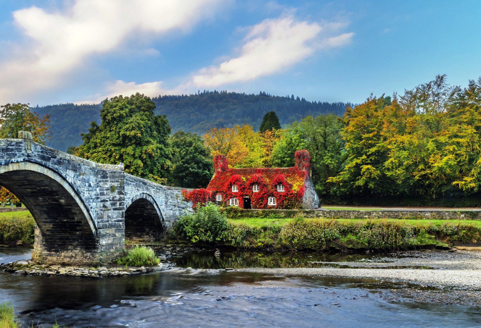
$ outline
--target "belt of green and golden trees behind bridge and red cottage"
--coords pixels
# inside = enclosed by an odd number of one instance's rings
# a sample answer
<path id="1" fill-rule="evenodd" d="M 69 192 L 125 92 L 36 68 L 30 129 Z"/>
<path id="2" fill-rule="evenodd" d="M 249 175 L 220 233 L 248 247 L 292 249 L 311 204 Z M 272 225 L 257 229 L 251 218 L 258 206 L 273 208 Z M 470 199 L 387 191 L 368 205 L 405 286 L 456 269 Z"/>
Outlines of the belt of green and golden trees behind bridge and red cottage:
<path id="1" fill-rule="evenodd" d="M 361 104 L 346 105 L 339 116 L 304 115 L 278 128 L 275 112 L 264 115 L 262 132 L 244 122 L 201 135 L 171 134 L 169 117 L 136 94 L 105 100 L 101 124 L 92 122 L 83 144 L 69 152 L 123 162 L 127 172 L 154 181 L 198 188 L 212 177 L 215 154 L 226 155 L 232 167 L 287 167 L 296 150 L 306 149 L 324 203 L 478 206 L 480 112 L 481 77 L 461 88 L 439 75 L 402 95 L 371 94 Z"/>

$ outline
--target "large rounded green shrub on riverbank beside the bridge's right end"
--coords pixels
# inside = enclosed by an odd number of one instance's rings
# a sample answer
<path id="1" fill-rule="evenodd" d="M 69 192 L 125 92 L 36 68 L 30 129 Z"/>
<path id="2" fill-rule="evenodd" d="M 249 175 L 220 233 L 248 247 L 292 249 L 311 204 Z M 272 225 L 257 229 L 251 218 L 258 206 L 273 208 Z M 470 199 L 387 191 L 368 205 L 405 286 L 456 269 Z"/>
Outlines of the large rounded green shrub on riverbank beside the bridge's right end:
<path id="1" fill-rule="evenodd" d="M 237 206 L 232 206 L 237 207 Z M 219 207 L 208 204 L 198 207 L 197 212 L 180 217 L 174 224 L 177 237 L 185 237 L 192 242 L 220 241 L 227 228 L 227 218 L 219 212 Z"/>

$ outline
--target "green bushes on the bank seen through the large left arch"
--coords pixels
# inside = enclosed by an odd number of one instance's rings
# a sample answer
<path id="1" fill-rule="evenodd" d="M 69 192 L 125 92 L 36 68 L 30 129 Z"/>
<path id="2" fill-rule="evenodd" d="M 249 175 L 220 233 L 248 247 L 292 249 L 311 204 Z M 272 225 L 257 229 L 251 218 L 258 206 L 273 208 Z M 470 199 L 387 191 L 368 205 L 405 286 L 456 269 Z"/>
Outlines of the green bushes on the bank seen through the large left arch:
<path id="1" fill-rule="evenodd" d="M 35 221 L 28 216 L 0 216 L 0 243 L 13 244 L 22 240 L 25 244 L 35 239 Z"/>

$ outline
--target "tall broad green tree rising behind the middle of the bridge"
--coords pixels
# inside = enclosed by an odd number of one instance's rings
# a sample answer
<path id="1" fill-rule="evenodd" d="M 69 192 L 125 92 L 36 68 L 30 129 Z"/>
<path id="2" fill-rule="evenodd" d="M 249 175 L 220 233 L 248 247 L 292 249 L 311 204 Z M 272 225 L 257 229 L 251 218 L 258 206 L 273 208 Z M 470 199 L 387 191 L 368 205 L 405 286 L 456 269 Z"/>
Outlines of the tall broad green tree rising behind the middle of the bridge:
<path id="1" fill-rule="evenodd" d="M 165 182 L 171 171 L 170 126 L 165 115 L 154 115 L 155 103 L 136 93 L 105 99 L 102 123 L 92 122 L 82 134 L 78 156 L 104 164 L 124 163 L 127 173 Z"/>

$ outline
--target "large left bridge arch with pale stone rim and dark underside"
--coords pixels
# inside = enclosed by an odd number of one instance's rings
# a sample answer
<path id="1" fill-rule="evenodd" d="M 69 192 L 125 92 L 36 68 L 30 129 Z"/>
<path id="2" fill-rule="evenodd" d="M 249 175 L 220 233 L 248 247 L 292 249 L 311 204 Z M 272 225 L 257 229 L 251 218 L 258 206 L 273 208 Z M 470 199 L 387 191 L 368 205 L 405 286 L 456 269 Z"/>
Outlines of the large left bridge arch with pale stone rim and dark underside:
<path id="1" fill-rule="evenodd" d="M 76 265 L 85 263 L 86 255 L 95 256 L 93 216 L 60 174 L 37 163 L 13 162 L 0 166 L 0 185 L 12 191 L 35 219 L 32 259 Z"/>

